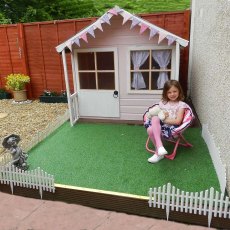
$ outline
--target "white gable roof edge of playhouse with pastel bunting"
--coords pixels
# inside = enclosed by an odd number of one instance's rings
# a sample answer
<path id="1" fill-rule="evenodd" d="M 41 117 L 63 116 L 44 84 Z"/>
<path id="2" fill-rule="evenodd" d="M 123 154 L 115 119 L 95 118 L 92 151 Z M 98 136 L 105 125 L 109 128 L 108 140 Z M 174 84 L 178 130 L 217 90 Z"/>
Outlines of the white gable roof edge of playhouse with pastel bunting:
<path id="1" fill-rule="evenodd" d="M 160 44 L 161 41 L 164 39 L 168 40 L 168 45 L 173 44 L 174 42 L 179 43 L 181 46 L 186 47 L 188 45 L 188 41 L 173 34 L 170 33 L 136 15 L 133 15 L 129 13 L 128 11 L 119 8 L 118 6 L 115 6 L 114 8 L 108 10 L 106 13 L 104 13 L 100 18 L 98 18 L 94 23 L 87 26 L 65 42 L 61 43 L 56 47 L 57 52 L 62 52 L 65 48 L 68 48 L 72 51 L 72 45 L 76 44 L 80 47 L 80 40 L 84 40 L 86 43 L 88 43 L 87 36 L 91 35 L 95 38 L 94 30 L 99 29 L 103 31 L 102 24 L 107 23 L 110 24 L 110 19 L 114 16 L 121 15 L 123 17 L 123 23 L 124 25 L 127 21 L 132 21 L 130 29 L 134 28 L 135 26 L 140 27 L 140 34 L 142 34 L 144 31 L 149 30 L 149 39 L 153 38 L 155 35 L 158 35 L 158 44 Z"/>

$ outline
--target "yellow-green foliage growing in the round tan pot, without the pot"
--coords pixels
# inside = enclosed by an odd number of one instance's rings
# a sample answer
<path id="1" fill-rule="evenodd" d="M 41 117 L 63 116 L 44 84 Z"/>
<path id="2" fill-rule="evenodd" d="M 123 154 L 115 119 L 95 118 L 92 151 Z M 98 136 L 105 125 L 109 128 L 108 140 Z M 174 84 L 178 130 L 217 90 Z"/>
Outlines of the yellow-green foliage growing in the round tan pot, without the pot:
<path id="1" fill-rule="evenodd" d="M 20 73 L 12 73 L 6 76 L 6 89 L 18 91 L 25 89 L 25 85 L 30 82 L 30 77 Z"/>

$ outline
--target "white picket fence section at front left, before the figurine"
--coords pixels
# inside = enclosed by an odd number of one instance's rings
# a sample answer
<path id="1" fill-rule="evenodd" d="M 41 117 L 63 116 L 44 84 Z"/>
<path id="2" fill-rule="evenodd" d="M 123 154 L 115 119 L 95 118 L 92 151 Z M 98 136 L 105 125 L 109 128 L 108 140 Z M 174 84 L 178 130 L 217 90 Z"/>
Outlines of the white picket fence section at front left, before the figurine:
<path id="1" fill-rule="evenodd" d="M 55 192 L 54 176 L 40 168 L 24 171 L 11 164 L 0 166 L 0 183 L 10 185 L 12 194 L 14 186 L 38 189 L 41 199 L 43 191 Z"/>

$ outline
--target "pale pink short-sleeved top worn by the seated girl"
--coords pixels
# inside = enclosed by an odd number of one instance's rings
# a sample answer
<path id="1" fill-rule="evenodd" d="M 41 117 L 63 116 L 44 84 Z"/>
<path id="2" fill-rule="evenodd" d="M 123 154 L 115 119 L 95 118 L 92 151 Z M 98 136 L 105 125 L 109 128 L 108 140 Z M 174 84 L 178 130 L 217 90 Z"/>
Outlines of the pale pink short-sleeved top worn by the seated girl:
<path id="1" fill-rule="evenodd" d="M 177 102 L 164 102 L 160 101 L 159 102 L 159 107 L 162 110 L 165 110 L 169 113 L 169 118 L 175 119 L 177 116 L 177 112 L 179 109 L 185 109 L 187 108 L 187 104 L 183 101 L 177 101 Z"/>

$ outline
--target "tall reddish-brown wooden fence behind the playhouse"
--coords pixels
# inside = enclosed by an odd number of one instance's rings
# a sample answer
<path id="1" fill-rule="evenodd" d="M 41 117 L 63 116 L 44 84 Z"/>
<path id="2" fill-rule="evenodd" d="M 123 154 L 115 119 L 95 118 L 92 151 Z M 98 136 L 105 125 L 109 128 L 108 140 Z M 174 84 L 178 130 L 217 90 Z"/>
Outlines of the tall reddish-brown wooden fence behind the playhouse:
<path id="1" fill-rule="evenodd" d="M 143 19 L 189 40 L 190 11 L 141 14 Z M 0 87 L 10 73 L 30 75 L 28 96 L 38 98 L 44 90 L 65 90 L 61 55 L 55 47 L 95 21 L 96 18 L 24 23 L 0 26 Z M 69 75 L 71 56 L 67 55 Z M 188 48 L 181 52 L 180 81 L 187 91 Z M 70 88 L 73 89 L 72 78 Z"/>

